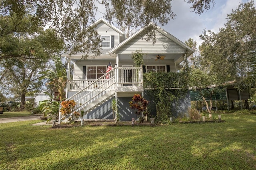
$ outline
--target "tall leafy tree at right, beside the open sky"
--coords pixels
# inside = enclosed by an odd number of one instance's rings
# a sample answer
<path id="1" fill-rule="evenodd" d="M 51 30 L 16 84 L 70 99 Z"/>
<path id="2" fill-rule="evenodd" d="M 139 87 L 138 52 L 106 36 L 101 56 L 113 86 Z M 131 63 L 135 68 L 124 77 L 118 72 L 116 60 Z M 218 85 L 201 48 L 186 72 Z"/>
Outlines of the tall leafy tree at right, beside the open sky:
<path id="1" fill-rule="evenodd" d="M 256 7 L 254 2 L 242 3 L 228 14 L 225 28 L 218 33 L 204 30 L 200 35 L 204 40 L 201 46 L 201 62 L 211 67 L 223 81 L 240 82 L 247 76 L 247 53 L 256 47 Z"/>

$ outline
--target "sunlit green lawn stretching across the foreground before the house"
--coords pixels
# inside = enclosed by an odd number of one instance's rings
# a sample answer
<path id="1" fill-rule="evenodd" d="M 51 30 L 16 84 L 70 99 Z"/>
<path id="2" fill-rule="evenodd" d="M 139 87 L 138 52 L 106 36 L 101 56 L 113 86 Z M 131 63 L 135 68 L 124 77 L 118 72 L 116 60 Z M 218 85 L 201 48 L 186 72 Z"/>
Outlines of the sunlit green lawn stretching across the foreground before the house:
<path id="1" fill-rule="evenodd" d="M 218 117 L 217 114 L 214 115 Z M 256 115 L 156 127 L 0 124 L 0 169 L 256 169 Z"/>

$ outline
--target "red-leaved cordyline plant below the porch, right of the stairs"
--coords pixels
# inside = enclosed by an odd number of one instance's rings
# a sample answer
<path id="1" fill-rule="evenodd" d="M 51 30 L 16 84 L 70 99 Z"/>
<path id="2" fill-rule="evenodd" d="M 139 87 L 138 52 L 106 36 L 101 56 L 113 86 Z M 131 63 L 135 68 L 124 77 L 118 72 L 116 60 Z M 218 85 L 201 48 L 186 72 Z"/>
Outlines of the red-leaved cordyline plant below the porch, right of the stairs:
<path id="1" fill-rule="evenodd" d="M 135 114 L 141 116 L 141 122 L 144 121 L 144 116 L 146 116 L 146 110 L 148 106 L 148 101 L 144 99 L 140 94 L 135 94 L 132 97 L 132 101 L 129 102 L 130 108 L 136 110 Z"/>

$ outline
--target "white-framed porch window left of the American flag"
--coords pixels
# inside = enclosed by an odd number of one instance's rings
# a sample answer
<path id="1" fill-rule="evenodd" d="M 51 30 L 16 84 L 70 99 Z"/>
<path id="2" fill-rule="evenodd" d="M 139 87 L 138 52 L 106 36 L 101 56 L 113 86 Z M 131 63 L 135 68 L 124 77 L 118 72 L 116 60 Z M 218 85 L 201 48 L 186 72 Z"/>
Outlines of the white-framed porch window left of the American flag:
<path id="1" fill-rule="evenodd" d="M 96 80 L 106 73 L 106 66 L 87 66 L 87 79 Z"/>

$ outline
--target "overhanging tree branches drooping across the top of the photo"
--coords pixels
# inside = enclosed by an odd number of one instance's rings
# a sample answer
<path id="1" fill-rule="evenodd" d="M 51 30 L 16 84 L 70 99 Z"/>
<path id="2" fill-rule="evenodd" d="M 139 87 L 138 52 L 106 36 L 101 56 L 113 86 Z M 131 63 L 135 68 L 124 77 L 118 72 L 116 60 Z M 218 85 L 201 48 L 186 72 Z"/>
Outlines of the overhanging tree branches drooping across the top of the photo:
<path id="1" fill-rule="evenodd" d="M 31 30 L 48 25 L 58 36 L 64 38 L 70 54 L 78 51 L 88 57 L 89 52 L 100 54 L 101 38 L 94 29 L 98 12 L 110 24 L 129 30 L 144 28 L 150 22 L 161 26 L 174 19 L 172 0 L 2 0 L 0 2 L 0 36 L 11 33 L 30 33 Z M 214 0 L 187 0 L 198 14 L 210 8 Z M 99 11 L 103 7 L 104 11 Z M 28 20 L 23 20 L 28 18 Z M 145 32 L 154 41 L 154 30 Z M 87 41 L 93 38 L 93 44 Z"/>

